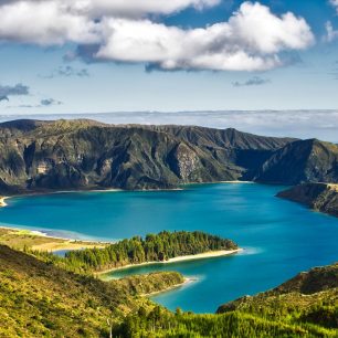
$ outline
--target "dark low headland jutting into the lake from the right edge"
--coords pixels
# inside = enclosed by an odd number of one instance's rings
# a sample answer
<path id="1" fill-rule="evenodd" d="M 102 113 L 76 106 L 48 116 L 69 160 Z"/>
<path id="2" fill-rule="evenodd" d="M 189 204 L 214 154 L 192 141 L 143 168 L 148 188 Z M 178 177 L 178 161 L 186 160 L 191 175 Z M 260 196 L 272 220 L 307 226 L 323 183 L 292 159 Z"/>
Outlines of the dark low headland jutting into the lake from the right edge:
<path id="1" fill-rule="evenodd" d="M 282 191 L 277 197 L 338 216 L 338 184 L 306 183 Z"/>

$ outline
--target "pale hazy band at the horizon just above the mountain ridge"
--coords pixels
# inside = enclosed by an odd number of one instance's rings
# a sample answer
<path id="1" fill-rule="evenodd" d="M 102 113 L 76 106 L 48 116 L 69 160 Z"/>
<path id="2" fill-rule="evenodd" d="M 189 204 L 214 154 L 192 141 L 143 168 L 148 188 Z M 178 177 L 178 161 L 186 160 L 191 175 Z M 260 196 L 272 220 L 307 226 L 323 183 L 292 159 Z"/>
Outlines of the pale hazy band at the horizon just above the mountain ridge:
<path id="1" fill-rule="evenodd" d="M 318 138 L 338 142 L 338 109 L 0 114 L 1 123 L 20 118 L 45 120 L 88 118 L 116 125 L 196 125 L 220 129 L 235 128 L 265 136 Z"/>

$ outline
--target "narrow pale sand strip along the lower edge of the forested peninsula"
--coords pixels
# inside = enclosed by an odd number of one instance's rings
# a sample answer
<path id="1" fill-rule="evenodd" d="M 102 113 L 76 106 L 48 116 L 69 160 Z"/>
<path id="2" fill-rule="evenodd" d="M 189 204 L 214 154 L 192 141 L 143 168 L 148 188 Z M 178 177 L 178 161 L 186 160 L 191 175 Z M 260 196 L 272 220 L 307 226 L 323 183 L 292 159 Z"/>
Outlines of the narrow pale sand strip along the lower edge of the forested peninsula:
<path id="1" fill-rule="evenodd" d="M 187 256 L 178 256 L 175 258 L 169 258 L 168 261 L 160 261 L 160 262 L 145 262 L 145 263 L 139 263 L 139 264 L 127 264 L 124 266 L 118 266 L 118 267 L 113 267 L 108 268 L 102 272 L 96 273 L 96 275 L 104 275 L 113 271 L 117 270 L 125 270 L 129 267 L 136 267 L 136 266 L 145 266 L 145 265 L 154 265 L 154 264 L 171 264 L 171 263 L 177 263 L 177 262 L 186 262 L 186 261 L 194 261 L 194 260 L 205 260 L 205 258 L 212 258 L 212 257 L 220 257 L 220 256 L 228 256 L 235 254 L 237 252 L 243 251 L 243 249 L 235 249 L 235 250 L 219 250 L 219 251 L 210 251 L 210 252 L 204 252 L 196 255 L 187 255 Z"/>

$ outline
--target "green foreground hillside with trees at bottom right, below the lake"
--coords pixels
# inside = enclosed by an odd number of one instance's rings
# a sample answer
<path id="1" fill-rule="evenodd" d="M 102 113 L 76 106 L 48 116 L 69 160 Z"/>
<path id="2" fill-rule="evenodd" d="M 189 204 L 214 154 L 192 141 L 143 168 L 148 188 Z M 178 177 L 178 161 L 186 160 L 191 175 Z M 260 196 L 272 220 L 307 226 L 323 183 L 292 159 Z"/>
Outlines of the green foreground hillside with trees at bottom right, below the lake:
<path id="1" fill-rule="evenodd" d="M 172 314 L 159 306 L 129 314 L 116 337 L 337 337 L 338 264 L 221 306 L 218 315 Z"/>

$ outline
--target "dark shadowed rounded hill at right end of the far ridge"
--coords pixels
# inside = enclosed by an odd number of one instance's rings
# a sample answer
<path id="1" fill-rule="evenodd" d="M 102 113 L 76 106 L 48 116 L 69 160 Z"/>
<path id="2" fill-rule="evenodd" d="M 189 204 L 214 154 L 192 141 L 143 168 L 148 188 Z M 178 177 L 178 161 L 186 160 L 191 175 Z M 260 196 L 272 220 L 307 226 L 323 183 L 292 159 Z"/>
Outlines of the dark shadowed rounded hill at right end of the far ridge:
<path id="1" fill-rule="evenodd" d="M 338 146 L 317 139 L 291 142 L 275 150 L 253 179 L 282 184 L 337 182 Z"/>

